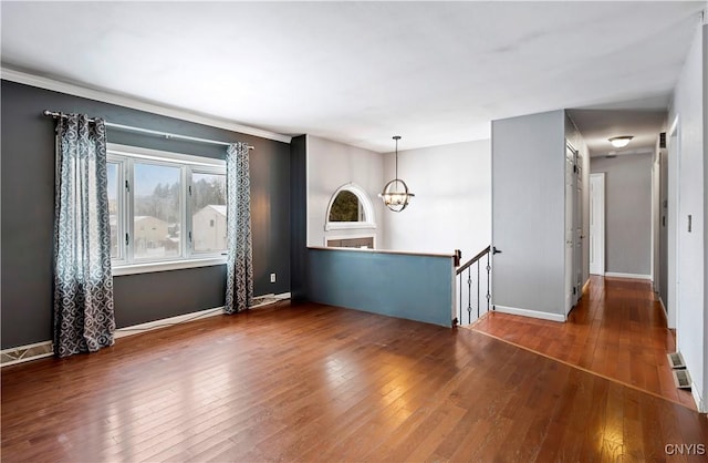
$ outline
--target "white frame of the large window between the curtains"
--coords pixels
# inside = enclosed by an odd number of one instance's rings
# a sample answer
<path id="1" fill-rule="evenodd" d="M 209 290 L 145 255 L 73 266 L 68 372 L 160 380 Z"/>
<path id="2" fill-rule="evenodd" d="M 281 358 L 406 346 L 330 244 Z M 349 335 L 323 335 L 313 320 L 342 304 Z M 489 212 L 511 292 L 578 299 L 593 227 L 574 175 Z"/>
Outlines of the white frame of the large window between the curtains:
<path id="1" fill-rule="evenodd" d="M 183 268 L 208 267 L 226 264 L 226 251 L 202 253 L 191 249 L 191 191 L 192 174 L 226 175 L 226 161 L 211 157 L 194 156 L 189 154 L 149 150 L 137 146 L 108 143 L 107 162 L 118 165 L 118 217 L 116 229 L 118 237 L 118 254 L 112 259 L 113 275 L 133 275 L 152 271 L 176 270 Z M 140 259 L 134 256 L 135 219 L 133 214 L 134 164 L 164 165 L 180 168 L 180 244 L 179 257 L 158 259 Z M 127 181 L 127 184 L 126 184 Z M 127 244 L 124 239 L 127 233 Z"/>

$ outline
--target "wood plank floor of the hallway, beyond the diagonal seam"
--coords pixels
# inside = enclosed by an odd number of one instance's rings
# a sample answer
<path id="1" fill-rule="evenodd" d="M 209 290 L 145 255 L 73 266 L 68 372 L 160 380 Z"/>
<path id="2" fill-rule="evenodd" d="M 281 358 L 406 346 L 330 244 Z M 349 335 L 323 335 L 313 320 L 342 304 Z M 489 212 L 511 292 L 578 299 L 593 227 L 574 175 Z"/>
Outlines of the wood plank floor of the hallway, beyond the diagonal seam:
<path id="1" fill-rule="evenodd" d="M 490 312 L 471 328 L 696 410 L 674 384 L 676 342 L 648 281 L 591 276 L 565 323 Z"/>

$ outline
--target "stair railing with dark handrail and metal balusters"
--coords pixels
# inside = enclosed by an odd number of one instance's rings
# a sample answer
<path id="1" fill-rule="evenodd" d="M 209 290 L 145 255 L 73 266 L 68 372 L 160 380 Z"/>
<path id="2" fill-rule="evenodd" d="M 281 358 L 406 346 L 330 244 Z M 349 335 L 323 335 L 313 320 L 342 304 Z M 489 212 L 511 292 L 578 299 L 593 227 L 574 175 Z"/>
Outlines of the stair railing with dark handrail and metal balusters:
<path id="1" fill-rule="evenodd" d="M 459 251 L 456 251 L 456 254 L 459 255 Z M 490 307 L 493 310 L 493 306 L 491 306 L 491 259 L 489 255 L 490 246 L 487 246 L 455 271 L 459 295 L 457 295 L 458 317 L 452 320 L 454 325 L 470 325 L 483 313 L 487 313 Z M 485 261 L 487 265 L 482 267 Z"/>

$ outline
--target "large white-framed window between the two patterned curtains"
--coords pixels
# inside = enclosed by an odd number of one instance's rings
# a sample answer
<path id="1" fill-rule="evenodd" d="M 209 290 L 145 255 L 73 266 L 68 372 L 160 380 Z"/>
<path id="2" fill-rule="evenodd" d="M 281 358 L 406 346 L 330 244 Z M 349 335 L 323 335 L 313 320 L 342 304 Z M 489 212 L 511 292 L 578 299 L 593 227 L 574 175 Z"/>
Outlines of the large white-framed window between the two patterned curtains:
<path id="1" fill-rule="evenodd" d="M 108 144 L 114 275 L 223 263 L 222 160 Z"/>

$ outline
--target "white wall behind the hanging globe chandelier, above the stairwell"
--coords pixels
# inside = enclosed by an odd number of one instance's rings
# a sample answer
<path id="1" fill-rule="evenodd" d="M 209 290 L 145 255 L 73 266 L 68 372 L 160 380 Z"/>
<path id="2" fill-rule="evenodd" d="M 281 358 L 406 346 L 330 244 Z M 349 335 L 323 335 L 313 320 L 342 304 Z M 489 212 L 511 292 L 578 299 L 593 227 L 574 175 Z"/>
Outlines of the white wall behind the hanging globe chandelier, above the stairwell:
<path id="1" fill-rule="evenodd" d="M 384 179 L 394 178 L 395 156 L 383 157 Z M 398 174 L 416 196 L 405 213 L 384 210 L 384 249 L 442 254 L 460 249 L 466 261 L 489 246 L 490 140 L 399 151 Z"/>

